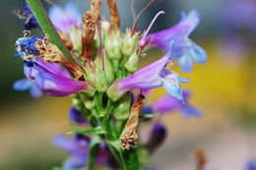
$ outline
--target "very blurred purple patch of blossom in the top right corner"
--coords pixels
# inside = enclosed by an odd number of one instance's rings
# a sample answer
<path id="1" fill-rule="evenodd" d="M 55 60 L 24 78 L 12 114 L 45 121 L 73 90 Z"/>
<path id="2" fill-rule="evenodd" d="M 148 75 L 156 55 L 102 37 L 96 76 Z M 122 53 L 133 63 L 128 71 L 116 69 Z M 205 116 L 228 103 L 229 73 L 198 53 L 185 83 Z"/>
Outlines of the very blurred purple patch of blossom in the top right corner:
<path id="1" fill-rule="evenodd" d="M 232 0 L 224 5 L 224 26 L 229 30 L 247 28 L 256 32 L 256 0 Z M 238 15 L 237 15 L 238 14 Z"/>

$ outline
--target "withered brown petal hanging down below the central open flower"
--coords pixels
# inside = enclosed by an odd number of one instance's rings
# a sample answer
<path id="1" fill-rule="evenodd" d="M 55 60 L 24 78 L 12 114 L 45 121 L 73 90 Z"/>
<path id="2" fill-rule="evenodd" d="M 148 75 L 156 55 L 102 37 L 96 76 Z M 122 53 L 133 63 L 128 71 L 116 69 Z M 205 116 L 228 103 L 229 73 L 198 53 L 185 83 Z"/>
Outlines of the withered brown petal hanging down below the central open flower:
<path id="1" fill-rule="evenodd" d="M 139 94 L 132 105 L 131 114 L 127 120 L 124 130 L 120 136 L 123 149 L 129 149 L 132 144 L 136 144 L 138 140 L 137 129 L 139 124 L 139 114 L 145 97 Z"/>

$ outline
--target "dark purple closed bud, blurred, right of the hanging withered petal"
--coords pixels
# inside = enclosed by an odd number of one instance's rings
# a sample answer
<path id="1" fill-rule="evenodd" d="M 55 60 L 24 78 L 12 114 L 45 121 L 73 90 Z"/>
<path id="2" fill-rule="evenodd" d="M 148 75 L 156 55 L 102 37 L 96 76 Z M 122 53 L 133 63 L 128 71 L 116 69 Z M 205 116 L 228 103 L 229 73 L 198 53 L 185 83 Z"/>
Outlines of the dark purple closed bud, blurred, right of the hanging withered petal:
<path id="1" fill-rule="evenodd" d="M 160 146 L 160 144 L 165 140 L 165 138 L 166 129 L 160 122 L 158 122 L 153 126 L 146 146 L 153 151 Z"/>

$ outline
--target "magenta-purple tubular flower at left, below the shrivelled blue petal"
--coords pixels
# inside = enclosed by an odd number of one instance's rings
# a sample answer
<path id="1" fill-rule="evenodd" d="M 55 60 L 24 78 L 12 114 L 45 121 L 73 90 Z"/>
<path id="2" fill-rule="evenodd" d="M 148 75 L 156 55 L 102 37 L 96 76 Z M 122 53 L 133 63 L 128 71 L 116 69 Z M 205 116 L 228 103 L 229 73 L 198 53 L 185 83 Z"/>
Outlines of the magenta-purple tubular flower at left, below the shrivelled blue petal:
<path id="1" fill-rule="evenodd" d="M 47 95 L 65 96 L 88 87 L 86 82 L 72 80 L 60 65 L 45 63 L 42 60 L 25 63 L 24 73 L 32 84 Z"/>

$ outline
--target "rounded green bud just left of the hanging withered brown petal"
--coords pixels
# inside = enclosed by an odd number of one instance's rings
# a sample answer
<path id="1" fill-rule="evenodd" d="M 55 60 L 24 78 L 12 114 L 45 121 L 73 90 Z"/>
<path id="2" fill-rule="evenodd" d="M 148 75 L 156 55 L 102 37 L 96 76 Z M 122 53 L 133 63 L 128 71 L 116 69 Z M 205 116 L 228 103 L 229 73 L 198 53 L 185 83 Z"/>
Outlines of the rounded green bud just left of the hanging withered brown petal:
<path id="1" fill-rule="evenodd" d="M 114 109 L 114 117 L 117 121 L 123 121 L 129 118 L 131 110 L 131 97 L 126 95 L 122 99 L 120 99 Z"/>

